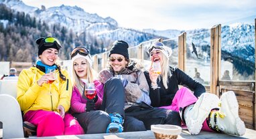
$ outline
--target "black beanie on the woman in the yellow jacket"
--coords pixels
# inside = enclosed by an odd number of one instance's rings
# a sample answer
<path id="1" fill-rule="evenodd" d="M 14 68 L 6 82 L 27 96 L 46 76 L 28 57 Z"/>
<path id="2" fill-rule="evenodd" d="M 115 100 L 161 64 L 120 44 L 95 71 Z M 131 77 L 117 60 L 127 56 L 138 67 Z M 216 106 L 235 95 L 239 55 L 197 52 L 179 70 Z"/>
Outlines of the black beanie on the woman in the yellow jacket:
<path id="1" fill-rule="evenodd" d="M 38 44 L 38 56 L 41 55 L 44 52 L 44 50 L 48 48 L 54 48 L 59 51 L 61 47 L 60 45 L 58 45 L 57 43 L 45 43 L 44 39 L 45 37 L 40 37 L 36 39 L 36 43 Z"/>

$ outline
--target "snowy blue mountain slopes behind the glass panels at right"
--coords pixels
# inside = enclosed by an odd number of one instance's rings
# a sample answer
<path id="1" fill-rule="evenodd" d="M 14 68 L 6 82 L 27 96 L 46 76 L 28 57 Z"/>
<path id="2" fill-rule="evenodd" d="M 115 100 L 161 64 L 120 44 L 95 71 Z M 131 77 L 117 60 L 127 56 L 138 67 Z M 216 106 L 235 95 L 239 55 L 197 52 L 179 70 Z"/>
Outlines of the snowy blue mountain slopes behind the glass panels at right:
<path id="1" fill-rule="evenodd" d="M 170 35 L 169 31 L 156 31 L 154 29 L 145 30 L 155 35 L 161 35 L 176 41 L 173 43 L 174 57 L 178 56 L 178 39 Z M 182 31 L 171 32 L 179 35 Z M 210 62 L 210 29 L 194 29 L 186 31 L 187 37 L 187 58 L 192 61 Z M 193 51 L 192 43 L 196 46 L 198 57 Z M 169 44 L 168 44 L 169 45 Z M 241 76 L 234 75 L 233 79 L 247 80 L 253 79 L 255 72 L 255 25 L 254 23 L 233 23 L 223 25 L 221 28 L 221 57 L 224 61 L 233 64 L 233 69 Z M 204 63 L 204 62 L 202 62 Z M 233 71 L 233 72 L 234 72 Z M 194 74 L 190 75 L 194 76 Z M 237 77 L 235 77 L 237 76 Z M 250 76 L 250 77 L 249 77 Z"/>

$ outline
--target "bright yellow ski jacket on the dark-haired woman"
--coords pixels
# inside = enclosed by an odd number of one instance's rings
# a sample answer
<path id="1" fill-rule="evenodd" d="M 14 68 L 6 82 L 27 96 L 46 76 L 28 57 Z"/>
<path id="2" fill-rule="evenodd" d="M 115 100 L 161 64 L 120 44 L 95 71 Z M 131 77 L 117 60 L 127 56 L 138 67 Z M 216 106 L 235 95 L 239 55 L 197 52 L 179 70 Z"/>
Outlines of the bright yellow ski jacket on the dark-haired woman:
<path id="1" fill-rule="evenodd" d="M 23 69 L 19 74 L 17 82 L 17 101 L 23 114 L 29 110 L 48 110 L 57 112 L 59 105 L 65 108 L 65 112 L 70 108 L 72 94 L 72 84 L 66 70 L 62 74 L 66 76 L 66 81 L 62 80 L 58 73 L 58 78 L 50 87 L 50 84 L 38 86 L 37 81 L 45 73 L 37 67 Z M 51 90 L 50 90 L 51 89 Z"/>

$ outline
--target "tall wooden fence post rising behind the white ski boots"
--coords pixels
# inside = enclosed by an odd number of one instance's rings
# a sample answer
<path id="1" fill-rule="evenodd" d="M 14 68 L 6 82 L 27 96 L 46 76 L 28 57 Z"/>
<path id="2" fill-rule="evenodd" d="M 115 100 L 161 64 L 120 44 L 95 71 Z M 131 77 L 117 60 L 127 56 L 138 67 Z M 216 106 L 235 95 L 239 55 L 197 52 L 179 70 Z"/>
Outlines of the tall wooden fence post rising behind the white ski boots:
<path id="1" fill-rule="evenodd" d="M 218 78 L 220 77 L 221 58 L 221 25 L 214 25 L 210 29 L 210 93 L 220 96 Z"/>

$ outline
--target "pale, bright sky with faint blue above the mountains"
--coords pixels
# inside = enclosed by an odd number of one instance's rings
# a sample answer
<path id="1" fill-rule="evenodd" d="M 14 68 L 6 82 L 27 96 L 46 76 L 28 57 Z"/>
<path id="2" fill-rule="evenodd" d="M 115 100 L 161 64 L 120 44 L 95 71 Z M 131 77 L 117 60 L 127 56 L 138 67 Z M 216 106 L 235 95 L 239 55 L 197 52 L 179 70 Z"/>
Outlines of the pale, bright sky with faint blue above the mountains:
<path id="1" fill-rule="evenodd" d="M 88 13 L 112 17 L 120 27 L 132 29 L 198 29 L 256 18 L 255 0 L 22 0 L 46 8 L 78 6 Z"/>

